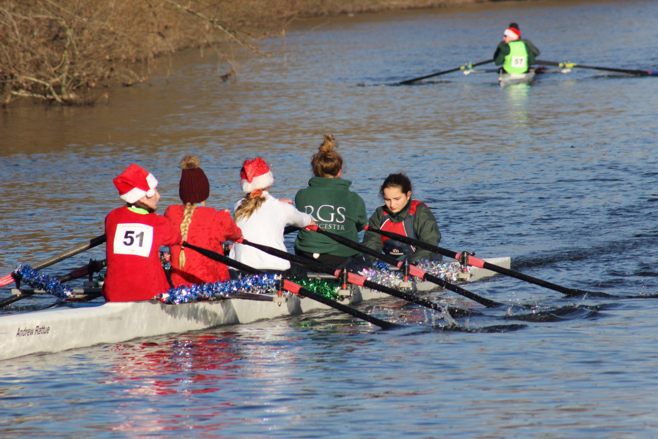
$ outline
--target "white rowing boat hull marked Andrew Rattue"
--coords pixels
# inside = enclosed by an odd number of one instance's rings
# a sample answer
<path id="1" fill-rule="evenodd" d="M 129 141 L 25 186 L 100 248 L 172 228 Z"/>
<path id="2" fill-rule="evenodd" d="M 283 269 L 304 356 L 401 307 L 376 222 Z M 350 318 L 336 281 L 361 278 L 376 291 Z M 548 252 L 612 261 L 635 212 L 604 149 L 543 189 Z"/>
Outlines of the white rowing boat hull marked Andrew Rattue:
<path id="1" fill-rule="evenodd" d="M 487 261 L 509 268 L 509 257 Z M 470 273 L 471 282 L 495 274 L 477 267 L 470 267 Z M 418 283 L 420 291 L 432 289 L 436 285 Z M 354 288 L 345 301 L 357 305 L 382 297 L 390 296 L 368 288 Z M 308 297 L 288 294 L 284 299 L 283 303 L 276 303 L 274 295 L 244 294 L 174 305 L 155 300 L 56 303 L 40 311 L 0 316 L 0 360 L 329 309 Z"/>

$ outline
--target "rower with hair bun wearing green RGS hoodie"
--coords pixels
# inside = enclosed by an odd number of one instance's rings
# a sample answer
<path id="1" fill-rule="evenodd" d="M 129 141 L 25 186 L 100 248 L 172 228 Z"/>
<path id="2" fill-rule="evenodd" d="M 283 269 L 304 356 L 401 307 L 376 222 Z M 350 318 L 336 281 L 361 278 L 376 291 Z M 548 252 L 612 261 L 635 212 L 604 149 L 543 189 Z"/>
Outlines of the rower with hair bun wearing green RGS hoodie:
<path id="1" fill-rule="evenodd" d="M 311 215 L 319 228 L 359 242 L 359 232 L 368 221 L 366 205 L 359 194 L 349 190 L 352 182 L 341 178 L 343 157 L 336 147 L 334 136 L 326 134 L 319 151 L 311 159 L 314 176 L 309 186 L 295 195 L 295 205 Z M 295 253 L 330 267 L 347 267 L 352 271 L 369 265 L 359 251 L 309 230 L 299 230 Z"/>

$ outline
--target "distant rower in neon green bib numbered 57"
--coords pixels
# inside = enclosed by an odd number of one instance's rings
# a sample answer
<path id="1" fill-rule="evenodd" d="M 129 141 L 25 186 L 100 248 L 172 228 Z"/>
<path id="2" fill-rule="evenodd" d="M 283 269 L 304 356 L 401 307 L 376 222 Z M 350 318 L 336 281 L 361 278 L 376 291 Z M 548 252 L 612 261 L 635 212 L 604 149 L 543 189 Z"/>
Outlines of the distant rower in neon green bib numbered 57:
<path id="1" fill-rule="evenodd" d="M 502 66 L 505 73 L 526 73 L 535 64 L 535 57 L 540 55 L 539 49 L 527 39 L 521 39 L 519 25 L 510 23 L 503 32 L 503 41 L 493 53 L 493 63 Z"/>

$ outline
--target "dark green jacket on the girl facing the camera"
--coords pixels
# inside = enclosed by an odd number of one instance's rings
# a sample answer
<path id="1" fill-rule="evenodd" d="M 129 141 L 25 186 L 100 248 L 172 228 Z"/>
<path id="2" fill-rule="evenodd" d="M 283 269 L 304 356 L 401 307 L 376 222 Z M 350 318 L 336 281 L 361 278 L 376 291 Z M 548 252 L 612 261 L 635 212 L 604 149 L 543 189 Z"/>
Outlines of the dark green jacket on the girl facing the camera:
<path id="1" fill-rule="evenodd" d="M 412 200 L 410 199 L 404 209 L 398 213 L 392 213 L 385 205 L 378 207 L 372 214 L 372 217 L 370 217 L 368 226 L 380 228 L 382 221 L 384 220 L 384 209 L 386 209 L 386 212 L 390 215 L 390 220 L 393 222 L 404 220 L 409 213 L 411 201 Z M 416 207 L 413 231 L 416 234 L 416 239 L 429 244 L 438 245 L 441 240 L 441 232 L 439 231 L 439 226 L 436 225 L 436 219 L 434 218 L 434 215 L 432 215 L 432 211 L 430 211 L 430 209 L 428 209 L 423 203 L 418 203 L 418 206 Z M 363 244 L 377 251 L 382 251 L 384 249 L 382 235 L 375 232 L 368 232 L 367 230 L 365 235 L 363 235 Z M 416 249 L 413 255 L 411 255 L 411 261 L 422 261 L 423 259 L 436 259 L 436 256 L 431 251 L 423 249 Z"/>

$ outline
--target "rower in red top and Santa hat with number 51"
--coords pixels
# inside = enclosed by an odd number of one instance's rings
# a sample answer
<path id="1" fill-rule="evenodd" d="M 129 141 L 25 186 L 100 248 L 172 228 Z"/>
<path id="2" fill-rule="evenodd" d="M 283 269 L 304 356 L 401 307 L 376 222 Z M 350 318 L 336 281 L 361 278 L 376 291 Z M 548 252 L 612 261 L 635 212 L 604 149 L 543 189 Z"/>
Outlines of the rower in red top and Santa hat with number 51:
<path id="1" fill-rule="evenodd" d="M 105 217 L 107 275 L 106 301 L 149 300 L 169 290 L 160 261 L 161 245 L 180 242 L 181 236 L 155 210 L 158 180 L 132 163 L 113 180 L 126 205 Z"/>

